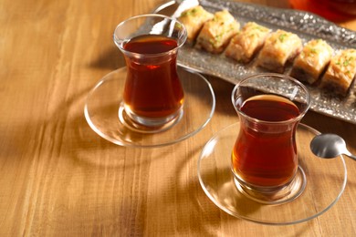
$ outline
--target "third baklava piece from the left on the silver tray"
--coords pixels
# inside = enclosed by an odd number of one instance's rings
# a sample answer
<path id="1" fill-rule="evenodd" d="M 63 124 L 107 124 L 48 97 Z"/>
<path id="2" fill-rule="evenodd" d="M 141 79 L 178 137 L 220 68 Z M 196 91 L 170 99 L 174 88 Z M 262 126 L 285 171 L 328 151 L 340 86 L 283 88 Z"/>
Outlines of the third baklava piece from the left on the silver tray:
<path id="1" fill-rule="evenodd" d="M 236 59 L 241 63 L 248 63 L 265 43 L 270 29 L 259 26 L 255 22 L 248 22 L 241 32 L 234 36 L 226 47 L 225 56 Z"/>

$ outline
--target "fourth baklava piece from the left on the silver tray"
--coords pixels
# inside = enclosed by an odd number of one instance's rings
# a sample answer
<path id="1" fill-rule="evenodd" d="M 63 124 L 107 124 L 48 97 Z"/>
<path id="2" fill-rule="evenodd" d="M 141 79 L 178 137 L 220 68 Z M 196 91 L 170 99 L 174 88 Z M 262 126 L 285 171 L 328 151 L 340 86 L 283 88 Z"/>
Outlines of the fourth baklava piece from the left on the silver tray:
<path id="1" fill-rule="evenodd" d="M 294 59 L 301 49 L 301 40 L 297 35 L 278 29 L 267 36 L 265 45 L 258 55 L 257 65 L 283 73 L 287 61 Z"/>

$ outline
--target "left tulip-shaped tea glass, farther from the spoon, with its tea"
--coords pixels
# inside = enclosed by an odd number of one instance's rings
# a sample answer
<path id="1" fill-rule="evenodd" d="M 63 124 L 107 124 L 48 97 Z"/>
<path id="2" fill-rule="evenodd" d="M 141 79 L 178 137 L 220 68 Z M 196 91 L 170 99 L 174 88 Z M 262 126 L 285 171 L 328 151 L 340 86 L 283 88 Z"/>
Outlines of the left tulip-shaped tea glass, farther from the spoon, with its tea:
<path id="1" fill-rule="evenodd" d="M 186 37 L 183 24 L 165 15 L 133 16 L 116 27 L 114 42 L 127 66 L 121 122 L 143 132 L 158 132 L 182 118 L 184 93 L 177 53 Z"/>

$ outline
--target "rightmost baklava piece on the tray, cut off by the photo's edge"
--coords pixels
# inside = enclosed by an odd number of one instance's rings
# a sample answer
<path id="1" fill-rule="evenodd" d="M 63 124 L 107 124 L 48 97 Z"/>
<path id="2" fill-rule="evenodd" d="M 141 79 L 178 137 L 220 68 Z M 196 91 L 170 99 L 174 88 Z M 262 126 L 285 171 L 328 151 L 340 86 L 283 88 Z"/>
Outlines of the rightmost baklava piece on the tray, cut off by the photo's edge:
<path id="1" fill-rule="evenodd" d="M 346 96 L 356 75 L 356 49 L 342 50 L 332 57 L 330 65 L 320 81 L 320 88 L 329 88 L 333 93 Z"/>

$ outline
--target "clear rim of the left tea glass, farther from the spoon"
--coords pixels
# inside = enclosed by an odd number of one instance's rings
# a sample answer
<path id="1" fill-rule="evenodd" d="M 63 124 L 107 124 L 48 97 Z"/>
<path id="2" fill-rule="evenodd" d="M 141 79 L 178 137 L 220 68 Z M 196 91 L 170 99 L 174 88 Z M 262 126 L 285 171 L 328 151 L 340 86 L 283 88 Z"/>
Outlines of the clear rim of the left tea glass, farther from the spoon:
<path id="1" fill-rule="evenodd" d="M 128 22 L 132 21 L 132 20 L 135 20 L 135 19 L 138 19 L 138 18 L 149 18 L 149 17 L 157 17 L 157 18 L 162 18 L 162 20 L 164 19 L 167 19 L 169 21 L 172 21 L 172 22 L 175 22 L 175 23 L 178 23 L 180 25 L 180 27 L 183 28 L 183 38 L 181 40 L 177 40 L 177 46 L 174 47 L 173 49 L 169 50 L 169 51 L 165 51 L 165 52 L 162 52 L 162 53 L 157 53 L 157 54 L 141 54 L 141 53 L 135 53 L 135 52 L 131 52 L 129 50 L 126 50 L 123 46 L 122 46 L 122 43 L 125 42 L 125 40 L 129 39 L 129 37 L 127 38 L 124 38 L 124 39 L 119 39 L 117 36 L 116 36 L 116 32 L 118 30 L 120 30 L 120 27 L 127 24 Z M 147 34 L 147 35 L 157 35 L 157 36 L 161 36 L 162 34 Z M 134 16 L 131 16 L 129 18 L 127 18 L 126 20 L 120 22 L 120 24 L 118 26 L 115 27 L 115 30 L 114 30 L 114 34 L 113 34 L 113 40 L 115 42 L 115 45 L 118 46 L 120 48 L 120 51 L 122 53 L 124 53 L 125 55 L 130 55 L 130 56 L 133 56 L 133 57 L 162 57 L 164 55 L 167 55 L 167 54 L 171 54 L 175 51 L 177 51 L 180 47 L 182 47 L 187 39 L 187 36 L 188 36 L 188 33 L 187 33 L 187 30 L 186 30 L 186 27 L 183 25 L 183 23 L 181 23 L 180 21 L 178 21 L 176 18 L 173 18 L 171 16 L 168 16 L 168 15 L 162 15 L 162 14 L 143 14 L 143 15 L 134 15 Z M 131 38 L 130 38 L 131 39 Z"/>

